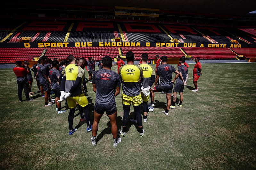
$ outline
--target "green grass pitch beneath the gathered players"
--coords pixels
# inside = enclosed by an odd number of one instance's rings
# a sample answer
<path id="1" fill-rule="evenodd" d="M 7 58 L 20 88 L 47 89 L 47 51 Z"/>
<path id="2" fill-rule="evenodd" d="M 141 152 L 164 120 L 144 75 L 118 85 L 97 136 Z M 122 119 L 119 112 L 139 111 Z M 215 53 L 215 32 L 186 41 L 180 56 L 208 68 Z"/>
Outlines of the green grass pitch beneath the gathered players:
<path id="1" fill-rule="evenodd" d="M 69 110 L 58 115 L 55 106 L 44 107 L 40 93 L 31 102 L 19 103 L 15 74 L 0 69 L 0 169 L 255 169 L 256 63 L 202 64 L 199 92 L 191 91 L 194 64 L 189 65 L 183 107 L 176 105 L 168 116 L 162 114 L 165 94 L 156 93 L 154 111 L 143 123 L 145 136 L 139 137 L 137 125 L 129 122 L 127 136 L 117 147 L 112 146 L 105 114 L 98 143 L 92 146 L 92 132 L 79 123 L 79 115 L 74 118 L 78 130 L 69 136 Z M 36 92 L 35 81 L 32 86 Z M 87 89 L 94 103 L 89 82 Z M 22 97 L 25 100 L 24 93 Z M 116 102 L 120 129 L 121 94 Z M 67 108 L 63 102 L 62 107 Z"/>

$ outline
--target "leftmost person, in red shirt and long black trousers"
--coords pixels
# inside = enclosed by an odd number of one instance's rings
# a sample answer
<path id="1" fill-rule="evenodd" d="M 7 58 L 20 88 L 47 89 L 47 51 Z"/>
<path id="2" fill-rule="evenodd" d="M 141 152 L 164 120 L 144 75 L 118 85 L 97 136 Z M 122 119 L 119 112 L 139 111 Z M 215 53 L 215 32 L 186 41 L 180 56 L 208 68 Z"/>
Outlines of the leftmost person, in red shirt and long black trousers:
<path id="1" fill-rule="evenodd" d="M 13 72 L 17 76 L 17 85 L 18 85 L 18 97 L 19 102 L 22 102 L 22 90 L 24 89 L 25 96 L 27 101 L 32 101 L 33 99 L 29 98 L 29 81 L 27 74 L 29 71 L 21 66 L 21 61 L 16 61 L 16 67 L 13 68 Z"/>

